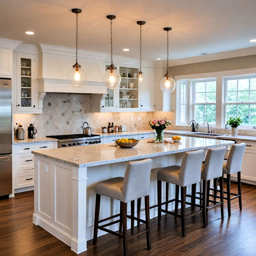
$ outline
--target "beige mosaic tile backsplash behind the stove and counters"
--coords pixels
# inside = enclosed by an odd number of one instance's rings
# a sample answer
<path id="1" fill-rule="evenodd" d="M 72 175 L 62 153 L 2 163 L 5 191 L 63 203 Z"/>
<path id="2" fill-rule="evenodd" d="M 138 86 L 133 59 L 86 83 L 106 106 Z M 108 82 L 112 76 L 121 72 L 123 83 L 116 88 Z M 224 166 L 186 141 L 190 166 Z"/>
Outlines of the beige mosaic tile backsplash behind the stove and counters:
<path id="1" fill-rule="evenodd" d="M 132 117 L 134 121 L 131 121 Z M 14 123 L 22 123 L 25 130 L 34 123 L 36 137 L 44 137 L 82 133 L 84 122 L 94 129 L 93 133 L 101 132 L 101 127 L 107 127 L 109 122 L 126 125 L 128 131 L 150 129 L 148 121 L 156 117 L 166 117 L 173 122 L 174 112 L 92 113 L 91 95 L 47 93 L 42 114 L 14 114 Z"/>

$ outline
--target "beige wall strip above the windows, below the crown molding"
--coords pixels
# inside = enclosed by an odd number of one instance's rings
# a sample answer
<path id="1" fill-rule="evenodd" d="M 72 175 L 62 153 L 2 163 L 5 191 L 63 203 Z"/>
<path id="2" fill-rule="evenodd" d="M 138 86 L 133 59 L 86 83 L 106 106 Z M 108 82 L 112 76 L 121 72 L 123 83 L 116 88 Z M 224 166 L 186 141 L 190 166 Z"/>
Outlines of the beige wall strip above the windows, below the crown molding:
<path id="1" fill-rule="evenodd" d="M 177 76 L 255 67 L 256 55 L 249 55 L 229 59 L 211 60 L 207 62 L 171 66 L 169 68 L 169 73 L 173 76 Z"/>

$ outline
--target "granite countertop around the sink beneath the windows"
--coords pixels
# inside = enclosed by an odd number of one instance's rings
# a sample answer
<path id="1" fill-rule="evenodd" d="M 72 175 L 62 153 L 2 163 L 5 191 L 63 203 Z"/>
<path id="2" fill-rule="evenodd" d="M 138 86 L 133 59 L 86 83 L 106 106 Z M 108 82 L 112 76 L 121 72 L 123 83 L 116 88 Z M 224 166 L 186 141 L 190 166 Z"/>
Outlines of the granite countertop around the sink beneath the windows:
<path id="1" fill-rule="evenodd" d="M 202 135 L 202 134 L 197 134 L 196 132 L 190 132 L 190 131 L 184 131 L 184 130 L 165 130 L 165 133 L 170 133 L 170 134 L 180 134 L 180 135 L 186 135 L 186 136 L 193 136 L 193 137 L 201 137 L 201 138 L 211 138 L 211 139 L 224 139 L 224 140 L 246 140 L 246 141 L 256 141 L 256 136 L 246 136 L 246 135 L 237 135 L 237 136 L 232 136 L 230 134 L 224 134 L 224 135 L 219 135 L 219 136 L 211 136 L 210 133 L 209 135 Z"/>

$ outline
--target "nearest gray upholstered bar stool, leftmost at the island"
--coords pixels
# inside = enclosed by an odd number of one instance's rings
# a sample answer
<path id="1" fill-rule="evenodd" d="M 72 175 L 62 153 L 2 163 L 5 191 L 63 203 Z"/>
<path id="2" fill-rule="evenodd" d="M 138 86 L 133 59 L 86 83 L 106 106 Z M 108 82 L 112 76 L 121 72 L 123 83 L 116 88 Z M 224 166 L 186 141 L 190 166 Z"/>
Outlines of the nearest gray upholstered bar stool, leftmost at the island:
<path id="1" fill-rule="evenodd" d="M 151 249 L 150 230 L 149 230 L 149 182 L 150 172 L 152 166 L 152 159 L 142 161 L 129 162 L 126 168 L 124 177 L 111 178 L 101 181 L 96 184 L 96 204 L 95 204 L 95 218 L 94 218 L 94 238 L 93 244 L 97 242 L 98 229 L 116 235 L 123 239 L 123 255 L 127 255 L 127 239 L 133 238 L 139 234 L 146 232 L 146 240 L 148 250 Z M 99 220 L 100 214 L 100 198 L 101 195 L 108 196 L 120 201 L 120 214 Z M 134 205 L 134 200 L 145 197 L 145 219 L 142 220 L 134 216 L 127 215 L 127 202 L 131 201 Z M 99 225 L 101 222 L 110 220 L 112 218 L 120 217 L 119 220 Z M 127 237 L 127 217 L 137 222 L 146 224 L 146 229 L 139 231 Z M 112 231 L 105 228 L 106 226 L 119 223 L 119 232 Z M 122 230 L 123 227 L 123 230 Z"/>

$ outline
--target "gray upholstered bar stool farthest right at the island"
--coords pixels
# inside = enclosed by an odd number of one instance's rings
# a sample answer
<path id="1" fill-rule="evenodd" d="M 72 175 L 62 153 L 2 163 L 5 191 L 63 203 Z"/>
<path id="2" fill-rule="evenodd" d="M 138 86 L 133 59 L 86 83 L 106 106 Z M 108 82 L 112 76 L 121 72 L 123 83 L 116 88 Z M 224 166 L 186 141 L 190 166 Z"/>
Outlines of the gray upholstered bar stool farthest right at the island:
<path id="1" fill-rule="evenodd" d="M 228 215 L 231 216 L 231 200 L 238 198 L 239 199 L 239 208 L 242 210 L 242 195 L 241 195 L 241 167 L 242 167 L 242 159 L 244 157 L 244 151 L 246 148 L 246 143 L 235 144 L 231 146 L 229 151 L 228 160 L 224 160 L 223 162 L 223 174 L 226 174 L 226 182 L 227 182 L 227 191 L 224 193 L 227 195 L 224 197 L 228 201 Z M 238 178 L 238 194 L 230 192 L 230 176 L 233 173 L 237 173 Z M 217 182 L 215 181 L 214 184 Z M 217 190 L 217 186 L 215 185 L 214 189 Z M 234 196 L 231 198 L 231 195 Z"/>

